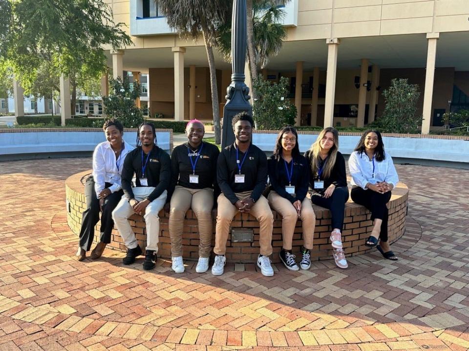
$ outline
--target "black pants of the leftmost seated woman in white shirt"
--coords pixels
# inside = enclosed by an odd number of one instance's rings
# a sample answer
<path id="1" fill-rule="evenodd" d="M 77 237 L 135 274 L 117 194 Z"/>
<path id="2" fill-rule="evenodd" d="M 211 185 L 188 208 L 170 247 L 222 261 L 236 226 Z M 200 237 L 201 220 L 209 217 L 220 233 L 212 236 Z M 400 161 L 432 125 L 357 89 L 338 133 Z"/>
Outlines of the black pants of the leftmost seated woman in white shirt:
<path id="1" fill-rule="evenodd" d="M 109 188 L 112 184 L 106 183 L 105 187 Z M 111 242 L 112 227 L 114 221 L 112 220 L 112 211 L 116 208 L 117 204 L 124 195 L 122 190 L 111 193 L 105 199 L 103 205 L 103 213 L 101 214 L 101 237 L 100 241 L 109 244 Z M 94 239 L 94 227 L 99 221 L 99 199 L 96 197 L 94 190 L 94 179 L 90 176 L 86 179 L 85 184 L 85 197 L 86 197 L 86 210 L 82 217 L 82 228 L 80 230 L 80 247 L 83 250 L 89 251 L 91 243 Z"/>

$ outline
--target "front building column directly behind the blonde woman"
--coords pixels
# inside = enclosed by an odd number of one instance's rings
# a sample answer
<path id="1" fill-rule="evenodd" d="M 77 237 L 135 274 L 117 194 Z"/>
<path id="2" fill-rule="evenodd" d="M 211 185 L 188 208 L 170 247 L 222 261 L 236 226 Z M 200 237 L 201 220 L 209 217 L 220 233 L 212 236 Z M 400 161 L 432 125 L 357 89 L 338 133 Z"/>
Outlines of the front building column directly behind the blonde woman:
<path id="1" fill-rule="evenodd" d="M 340 39 L 326 39 L 327 48 L 327 74 L 326 74 L 326 98 L 324 103 L 324 128 L 334 125 L 334 98 L 336 95 L 337 56 L 339 53 Z"/>

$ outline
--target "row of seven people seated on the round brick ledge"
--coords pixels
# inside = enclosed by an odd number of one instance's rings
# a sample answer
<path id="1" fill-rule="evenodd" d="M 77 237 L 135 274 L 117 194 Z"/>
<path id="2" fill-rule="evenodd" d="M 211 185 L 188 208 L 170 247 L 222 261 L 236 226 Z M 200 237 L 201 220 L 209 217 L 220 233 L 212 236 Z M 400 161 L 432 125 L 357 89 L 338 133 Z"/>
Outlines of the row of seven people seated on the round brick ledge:
<path id="1" fill-rule="evenodd" d="M 209 269 L 215 205 L 213 275 L 223 274 L 230 225 L 238 212 L 250 213 L 259 221 L 257 266 L 265 276 L 274 274 L 269 259 L 274 222 L 271 208 L 282 216 L 283 247 L 279 256 L 292 271 L 299 270 L 292 254 L 292 241 L 296 222 L 301 219 L 303 247 L 299 267 L 307 270 L 311 266 L 316 223 L 312 204 L 316 204 L 331 211 L 330 243 L 334 261 L 339 268 L 347 268 L 341 232 L 349 191 L 345 160 L 338 151 L 337 130 L 323 129 L 311 148 L 301 155 L 297 131 L 285 127 L 278 133 L 273 155 L 267 159 L 252 143 L 253 125 L 253 118 L 247 112 L 236 115 L 233 118 L 235 143 L 219 152 L 215 145 L 203 141 L 204 125 L 199 120 L 191 120 L 186 127 L 188 142 L 175 147 L 170 158 L 157 146 L 151 123 L 139 126 L 137 147 L 133 148 L 122 138 L 122 124 L 116 119 L 107 120 L 103 126 L 107 141 L 96 147 L 93 173 L 86 180 L 87 209 L 83 213 L 78 260 L 84 260 L 91 248 L 101 212 L 101 237 L 90 258 L 97 259 L 103 254 L 115 224 L 128 249 L 123 263 L 134 263 L 143 252 L 128 217 L 137 214 L 143 215 L 146 223 L 143 269 L 152 269 L 158 252 L 158 213 L 166 204 L 170 213 L 172 270 L 183 273 L 185 269 L 182 236 L 184 217 L 191 208 L 200 235 L 195 270 L 204 273 Z M 386 203 L 398 176 L 391 156 L 384 152 L 379 131 L 363 133 L 348 163 L 352 200 L 370 210 L 373 220 L 373 230 L 364 245 L 377 247 L 385 258 L 397 260 L 388 243 Z M 267 186 L 269 192 L 265 197 Z"/>

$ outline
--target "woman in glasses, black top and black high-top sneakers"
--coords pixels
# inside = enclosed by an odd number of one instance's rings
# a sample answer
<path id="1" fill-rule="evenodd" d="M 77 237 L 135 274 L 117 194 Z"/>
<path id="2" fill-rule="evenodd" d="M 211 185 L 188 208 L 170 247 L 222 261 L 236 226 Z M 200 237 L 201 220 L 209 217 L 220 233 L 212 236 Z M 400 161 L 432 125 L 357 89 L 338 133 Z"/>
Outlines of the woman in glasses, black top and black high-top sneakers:
<path id="1" fill-rule="evenodd" d="M 283 248 L 280 260 L 286 268 L 298 271 L 292 254 L 293 233 L 298 218 L 303 226 L 301 269 L 311 266 L 316 216 L 311 201 L 306 197 L 309 184 L 308 163 L 299 153 L 298 134 L 295 128 L 285 127 L 278 133 L 274 155 L 268 160 L 271 207 L 282 215 Z"/>

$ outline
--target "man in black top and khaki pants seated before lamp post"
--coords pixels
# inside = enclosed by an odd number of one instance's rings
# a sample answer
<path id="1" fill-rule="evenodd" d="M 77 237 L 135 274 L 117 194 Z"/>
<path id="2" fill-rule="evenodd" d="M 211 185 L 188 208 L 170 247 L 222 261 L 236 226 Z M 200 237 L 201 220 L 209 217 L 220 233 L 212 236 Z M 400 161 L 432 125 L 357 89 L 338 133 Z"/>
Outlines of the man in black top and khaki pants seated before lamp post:
<path id="1" fill-rule="evenodd" d="M 228 232 L 237 212 L 252 213 L 259 221 L 260 254 L 257 266 L 263 275 L 274 275 L 269 259 L 272 254 L 274 215 L 267 199 L 262 196 L 267 185 L 267 157 L 251 143 L 253 124 L 253 118 L 247 112 L 233 117 L 235 143 L 227 146 L 218 156 L 216 173 L 222 194 L 217 199 L 213 275 L 223 274 Z"/>

